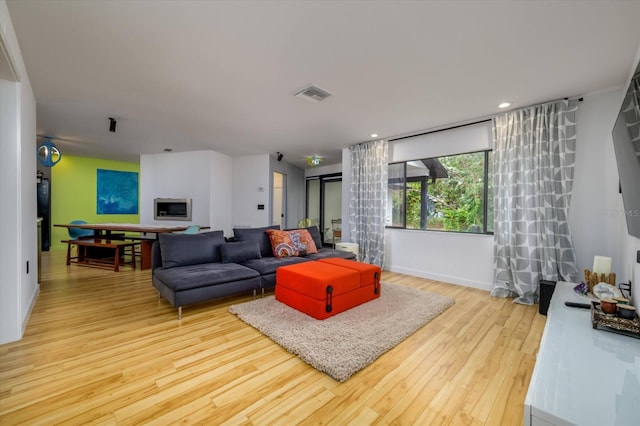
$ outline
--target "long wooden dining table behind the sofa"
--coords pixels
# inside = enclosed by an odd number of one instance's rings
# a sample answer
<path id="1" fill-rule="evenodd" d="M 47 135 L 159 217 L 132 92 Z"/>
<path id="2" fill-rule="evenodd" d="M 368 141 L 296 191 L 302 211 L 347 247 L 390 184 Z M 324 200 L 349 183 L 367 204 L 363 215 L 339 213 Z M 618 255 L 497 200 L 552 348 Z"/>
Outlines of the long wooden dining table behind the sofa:
<path id="1" fill-rule="evenodd" d="M 136 223 L 60 223 L 54 224 L 60 228 L 78 228 L 91 229 L 95 237 L 109 238 L 112 232 L 138 232 L 141 235 L 137 237 L 127 236 L 126 239 L 134 239 L 140 241 L 140 263 L 141 269 L 151 268 L 151 248 L 153 242 L 158 238 L 158 234 L 166 232 L 181 232 L 190 225 L 143 225 Z M 201 226 L 200 229 L 209 229 L 208 226 Z M 147 234 L 153 234 L 148 235 Z"/>

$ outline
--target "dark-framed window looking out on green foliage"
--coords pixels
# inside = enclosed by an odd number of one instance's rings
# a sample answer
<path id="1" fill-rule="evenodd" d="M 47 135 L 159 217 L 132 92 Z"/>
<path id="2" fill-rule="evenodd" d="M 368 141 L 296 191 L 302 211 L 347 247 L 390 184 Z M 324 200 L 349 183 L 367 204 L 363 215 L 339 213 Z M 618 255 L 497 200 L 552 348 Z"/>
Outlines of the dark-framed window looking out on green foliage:
<path id="1" fill-rule="evenodd" d="M 492 232 L 491 158 L 479 151 L 390 164 L 388 226 Z"/>

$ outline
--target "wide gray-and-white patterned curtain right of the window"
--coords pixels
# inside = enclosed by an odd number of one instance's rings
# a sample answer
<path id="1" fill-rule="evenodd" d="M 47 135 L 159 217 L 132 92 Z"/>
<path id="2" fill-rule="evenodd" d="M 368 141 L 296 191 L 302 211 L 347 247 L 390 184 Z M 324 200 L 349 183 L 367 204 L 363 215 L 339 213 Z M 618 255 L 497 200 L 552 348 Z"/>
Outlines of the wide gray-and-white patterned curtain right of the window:
<path id="1" fill-rule="evenodd" d="M 577 109 L 558 101 L 493 119 L 492 296 L 531 305 L 540 279 L 578 280 L 568 223 Z"/>

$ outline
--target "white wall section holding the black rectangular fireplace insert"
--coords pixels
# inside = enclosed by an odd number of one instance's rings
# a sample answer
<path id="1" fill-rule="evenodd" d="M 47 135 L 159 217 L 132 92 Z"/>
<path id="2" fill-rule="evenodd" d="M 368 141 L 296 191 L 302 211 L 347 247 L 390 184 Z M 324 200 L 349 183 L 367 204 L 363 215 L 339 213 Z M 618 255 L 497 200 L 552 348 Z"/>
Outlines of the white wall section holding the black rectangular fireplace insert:
<path id="1" fill-rule="evenodd" d="M 140 156 L 140 222 L 231 232 L 231 157 L 214 151 Z M 191 221 L 155 220 L 155 198 L 191 198 Z"/>

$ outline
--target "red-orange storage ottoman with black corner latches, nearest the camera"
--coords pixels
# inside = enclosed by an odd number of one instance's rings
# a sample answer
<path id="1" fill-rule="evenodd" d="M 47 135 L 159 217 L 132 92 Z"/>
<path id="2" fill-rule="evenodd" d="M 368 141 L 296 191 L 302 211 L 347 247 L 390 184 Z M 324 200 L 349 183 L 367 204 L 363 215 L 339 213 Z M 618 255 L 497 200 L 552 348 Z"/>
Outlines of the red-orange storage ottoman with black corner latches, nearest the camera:
<path id="1" fill-rule="evenodd" d="M 316 319 L 329 318 L 379 295 L 373 282 L 361 285 L 361 272 L 354 268 L 305 262 L 276 270 L 276 299 Z"/>

